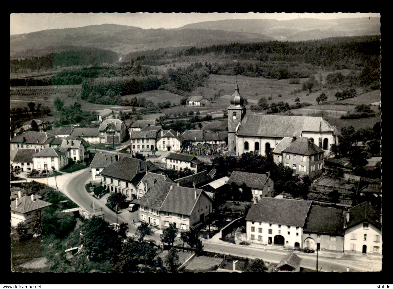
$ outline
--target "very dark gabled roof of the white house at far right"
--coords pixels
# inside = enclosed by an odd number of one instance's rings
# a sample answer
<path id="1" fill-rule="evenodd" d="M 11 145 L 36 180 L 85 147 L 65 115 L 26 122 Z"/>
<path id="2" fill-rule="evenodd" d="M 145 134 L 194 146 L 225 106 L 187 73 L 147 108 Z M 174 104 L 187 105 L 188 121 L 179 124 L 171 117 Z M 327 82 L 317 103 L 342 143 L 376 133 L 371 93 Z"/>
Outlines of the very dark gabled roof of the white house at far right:
<path id="1" fill-rule="evenodd" d="M 380 210 L 371 206 L 368 202 L 363 202 L 349 209 L 349 222 L 347 223 L 347 228 L 357 225 L 363 221 L 367 221 L 373 224 L 376 228 L 381 229 L 380 216 Z"/>

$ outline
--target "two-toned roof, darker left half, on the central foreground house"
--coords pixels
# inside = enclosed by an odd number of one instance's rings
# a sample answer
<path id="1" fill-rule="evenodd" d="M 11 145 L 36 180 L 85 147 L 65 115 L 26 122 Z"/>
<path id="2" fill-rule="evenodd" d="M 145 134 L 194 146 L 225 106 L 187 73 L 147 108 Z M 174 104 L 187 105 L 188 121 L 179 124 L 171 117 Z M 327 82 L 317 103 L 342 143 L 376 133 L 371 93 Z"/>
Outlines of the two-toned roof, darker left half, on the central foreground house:
<path id="1" fill-rule="evenodd" d="M 156 181 L 155 185 L 141 199 L 138 199 L 136 203 L 163 212 L 190 216 L 202 193 L 204 192 L 200 189 L 186 188 L 164 181 Z M 206 193 L 204 194 L 206 195 Z"/>

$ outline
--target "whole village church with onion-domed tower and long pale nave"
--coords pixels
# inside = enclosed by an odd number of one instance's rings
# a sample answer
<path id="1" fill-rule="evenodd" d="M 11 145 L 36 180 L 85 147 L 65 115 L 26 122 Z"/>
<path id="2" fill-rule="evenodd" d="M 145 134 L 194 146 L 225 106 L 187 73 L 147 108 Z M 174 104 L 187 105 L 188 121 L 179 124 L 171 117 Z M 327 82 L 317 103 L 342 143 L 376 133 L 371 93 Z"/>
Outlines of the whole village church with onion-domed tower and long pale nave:
<path id="1" fill-rule="evenodd" d="M 243 97 L 236 82 L 228 107 L 228 151 L 241 155 L 274 149 L 284 137 L 307 137 L 331 154 L 331 144 L 338 144 L 338 131 L 322 117 L 246 114 Z"/>

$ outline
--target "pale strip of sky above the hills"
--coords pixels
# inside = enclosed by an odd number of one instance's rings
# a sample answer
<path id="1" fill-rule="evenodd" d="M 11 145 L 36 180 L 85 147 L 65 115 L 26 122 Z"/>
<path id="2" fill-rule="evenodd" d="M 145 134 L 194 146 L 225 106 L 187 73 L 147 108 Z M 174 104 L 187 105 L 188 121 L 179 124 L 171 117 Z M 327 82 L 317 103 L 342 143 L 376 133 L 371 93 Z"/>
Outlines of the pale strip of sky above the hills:
<path id="1" fill-rule="evenodd" d="M 46 29 L 119 24 L 143 29 L 178 28 L 186 24 L 226 19 L 356 18 L 379 13 L 11 13 L 10 35 Z"/>

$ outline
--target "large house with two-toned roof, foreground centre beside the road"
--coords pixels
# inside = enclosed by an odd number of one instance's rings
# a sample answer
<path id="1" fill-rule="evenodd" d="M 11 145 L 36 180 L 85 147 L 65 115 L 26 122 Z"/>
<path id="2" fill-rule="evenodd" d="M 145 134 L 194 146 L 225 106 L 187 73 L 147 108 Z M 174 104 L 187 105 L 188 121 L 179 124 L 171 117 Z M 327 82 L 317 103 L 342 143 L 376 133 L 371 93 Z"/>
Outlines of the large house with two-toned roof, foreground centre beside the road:
<path id="1" fill-rule="evenodd" d="M 173 223 L 179 232 L 195 229 L 211 217 L 213 200 L 203 190 L 156 181 L 138 199 L 139 220 L 160 229 Z"/>

